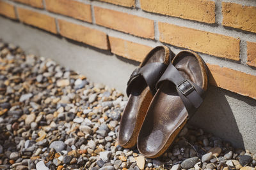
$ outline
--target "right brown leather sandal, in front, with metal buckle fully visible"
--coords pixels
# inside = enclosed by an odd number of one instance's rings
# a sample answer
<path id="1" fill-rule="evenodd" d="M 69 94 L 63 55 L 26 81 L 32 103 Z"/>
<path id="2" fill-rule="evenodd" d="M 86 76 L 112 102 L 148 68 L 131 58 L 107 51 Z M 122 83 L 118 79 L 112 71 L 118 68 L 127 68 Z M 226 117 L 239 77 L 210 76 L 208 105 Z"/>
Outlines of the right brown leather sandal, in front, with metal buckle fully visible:
<path id="1" fill-rule="evenodd" d="M 138 135 L 145 157 L 159 157 L 172 144 L 203 101 L 207 66 L 195 52 L 178 53 L 156 84 L 158 89 Z"/>

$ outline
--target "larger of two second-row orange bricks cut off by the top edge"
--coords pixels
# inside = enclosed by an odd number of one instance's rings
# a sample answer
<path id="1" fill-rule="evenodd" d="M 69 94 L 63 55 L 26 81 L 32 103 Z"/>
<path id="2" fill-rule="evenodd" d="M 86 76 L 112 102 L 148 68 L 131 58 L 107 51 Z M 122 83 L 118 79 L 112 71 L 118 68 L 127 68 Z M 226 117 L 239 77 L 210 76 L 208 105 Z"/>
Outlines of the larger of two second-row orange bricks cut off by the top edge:
<path id="1" fill-rule="evenodd" d="M 92 22 L 90 4 L 79 3 L 72 0 L 45 0 L 46 9 L 60 13 L 78 20 Z"/>

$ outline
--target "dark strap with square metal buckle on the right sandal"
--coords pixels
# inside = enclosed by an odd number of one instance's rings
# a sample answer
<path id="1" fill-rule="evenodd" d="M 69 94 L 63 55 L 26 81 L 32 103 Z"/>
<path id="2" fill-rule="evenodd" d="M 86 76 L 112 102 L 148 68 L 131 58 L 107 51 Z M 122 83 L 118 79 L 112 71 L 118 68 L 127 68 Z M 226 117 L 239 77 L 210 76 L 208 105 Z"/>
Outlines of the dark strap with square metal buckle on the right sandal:
<path id="1" fill-rule="evenodd" d="M 171 81 L 175 84 L 180 99 L 189 113 L 189 117 L 192 117 L 203 102 L 204 90 L 202 87 L 184 78 L 173 64 L 169 64 L 163 76 L 157 81 L 156 89 L 159 89 L 163 81 Z"/>

